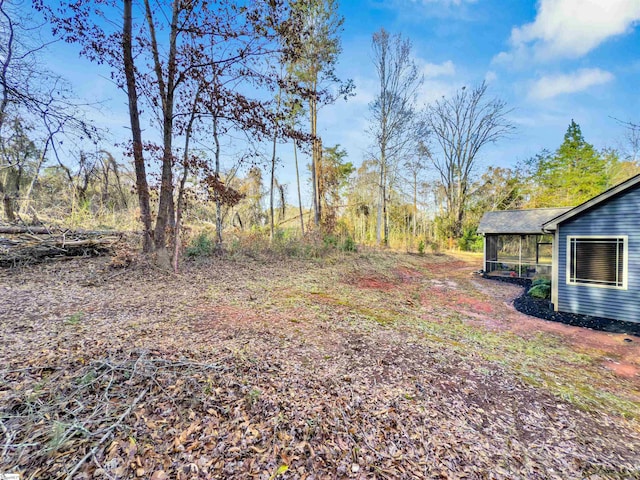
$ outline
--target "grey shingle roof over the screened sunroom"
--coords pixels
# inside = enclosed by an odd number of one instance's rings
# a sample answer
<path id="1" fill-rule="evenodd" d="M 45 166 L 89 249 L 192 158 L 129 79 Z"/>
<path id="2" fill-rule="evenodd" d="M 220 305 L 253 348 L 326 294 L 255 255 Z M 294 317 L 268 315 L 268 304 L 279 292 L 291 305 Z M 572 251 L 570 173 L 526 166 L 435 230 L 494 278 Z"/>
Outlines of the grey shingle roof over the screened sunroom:
<path id="1" fill-rule="evenodd" d="M 542 234 L 542 224 L 568 212 L 565 208 L 533 208 L 530 210 L 500 210 L 487 212 L 478 226 L 478 233 L 489 234 Z"/>

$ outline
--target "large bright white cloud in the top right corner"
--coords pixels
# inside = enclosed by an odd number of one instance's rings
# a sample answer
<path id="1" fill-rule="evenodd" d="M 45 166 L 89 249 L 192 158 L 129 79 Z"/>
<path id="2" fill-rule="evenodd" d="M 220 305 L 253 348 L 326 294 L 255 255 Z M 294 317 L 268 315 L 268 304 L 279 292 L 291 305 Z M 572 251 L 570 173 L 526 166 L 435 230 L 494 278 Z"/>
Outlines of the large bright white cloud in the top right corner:
<path id="1" fill-rule="evenodd" d="M 537 60 L 581 57 L 640 22 L 639 0 L 540 0 L 532 23 L 511 31 L 511 51 L 495 62 L 523 56 Z"/>

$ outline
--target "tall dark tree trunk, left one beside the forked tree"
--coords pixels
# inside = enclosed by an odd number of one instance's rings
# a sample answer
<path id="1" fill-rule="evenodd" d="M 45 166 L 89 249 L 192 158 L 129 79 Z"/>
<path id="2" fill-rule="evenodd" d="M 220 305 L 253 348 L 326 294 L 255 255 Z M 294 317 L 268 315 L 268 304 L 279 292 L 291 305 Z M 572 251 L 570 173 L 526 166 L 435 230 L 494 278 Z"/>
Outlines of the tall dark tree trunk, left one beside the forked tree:
<path id="1" fill-rule="evenodd" d="M 136 91 L 136 72 L 133 63 L 131 42 L 131 4 L 132 0 L 124 0 L 124 22 L 122 32 L 122 53 L 124 73 L 127 84 L 127 98 L 129 100 L 129 120 L 133 140 L 133 163 L 136 171 L 136 190 L 140 205 L 140 220 L 142 221 L 142 251 L 145 253 L 153 249 L 151 230 L 151 206 L 149 201 L 149 185 L 142 154 L 142 129 L 140 128 L 140 112 L 138 111 L 138 93 Z"/>

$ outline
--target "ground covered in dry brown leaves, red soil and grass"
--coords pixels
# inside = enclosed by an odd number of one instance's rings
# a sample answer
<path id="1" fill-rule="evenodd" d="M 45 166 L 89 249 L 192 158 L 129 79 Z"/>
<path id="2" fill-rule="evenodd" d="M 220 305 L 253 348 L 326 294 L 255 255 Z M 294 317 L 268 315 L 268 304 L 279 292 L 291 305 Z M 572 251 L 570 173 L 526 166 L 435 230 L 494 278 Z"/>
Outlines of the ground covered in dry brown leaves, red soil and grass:
<path id="1" fill-rule="evenodd" d="M 0 271 L 0 473 L 640 478 L 640 338 L 477 259 L 107 262 Z"/>

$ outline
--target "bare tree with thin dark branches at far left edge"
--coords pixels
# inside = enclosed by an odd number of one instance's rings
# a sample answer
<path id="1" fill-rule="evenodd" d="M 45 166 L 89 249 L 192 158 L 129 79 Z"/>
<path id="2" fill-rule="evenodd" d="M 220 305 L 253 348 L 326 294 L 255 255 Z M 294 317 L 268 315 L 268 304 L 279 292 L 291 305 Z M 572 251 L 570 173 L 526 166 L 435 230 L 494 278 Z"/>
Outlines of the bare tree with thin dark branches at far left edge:
<path id="1" fill-rule="evenodd" d="M 26 211 L 29 198 L 42 165 L 50 152 L 58 161 L 64 137 L 66 145 L 75 145 L 99 137 L 97 129 L 82 118 L 82 111 L 89 105 L 74 99 L 68 82 L 53 74 L 41 64 L 42 51 L 49 45 L 40 38 L 42 24 L 38 24 L 24 9 L 23 2 L 0 0 L 0 170 L 6 170 L 0 178 L 5 215 L 9 221 L 16 217 L 16 201 L 26 186 L 20 210 Z M 37 150 L 28 174 L 24 164 L 15 164 L 16 143 L 11 137 L 16 125 L 29 125 L 30 142 Z M 41 142 L 41 143 L 40 143 Z M 10 145 L 11 144 L 11 145 Z M 42 145 L 42 146 L 40 146 Z M 34 151 L 35 151 L 34 150 Z M 11 153 L 13 152 L 13 153 Z M 30 178 L 28 178 L 30 177 Z M 9 184 L 5 180 L 10 179 Z M 18 179 L 19 181 L 15 181 Z"/>

